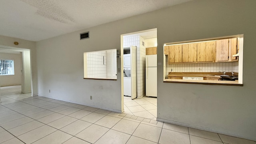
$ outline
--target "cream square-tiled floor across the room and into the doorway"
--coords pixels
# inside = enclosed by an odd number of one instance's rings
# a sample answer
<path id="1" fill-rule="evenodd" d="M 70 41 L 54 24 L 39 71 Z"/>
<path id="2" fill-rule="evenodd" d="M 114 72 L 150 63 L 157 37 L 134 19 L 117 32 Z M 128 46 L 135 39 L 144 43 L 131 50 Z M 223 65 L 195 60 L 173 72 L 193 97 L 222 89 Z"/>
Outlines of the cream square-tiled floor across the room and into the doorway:
<path id="1" fill-rule="evenodd" d="M 152 98 L 125 98 L 130 112 L 120 114 L 30 95 L 20 94 L 19 86 L 1 88 L 0 144 L 256 144 L 158 122 L 151 116 L 156 110 Z M 134 106 L 144 110 L 134 111 Z M 149 112 L 151 117 L 137 112 Z"/>

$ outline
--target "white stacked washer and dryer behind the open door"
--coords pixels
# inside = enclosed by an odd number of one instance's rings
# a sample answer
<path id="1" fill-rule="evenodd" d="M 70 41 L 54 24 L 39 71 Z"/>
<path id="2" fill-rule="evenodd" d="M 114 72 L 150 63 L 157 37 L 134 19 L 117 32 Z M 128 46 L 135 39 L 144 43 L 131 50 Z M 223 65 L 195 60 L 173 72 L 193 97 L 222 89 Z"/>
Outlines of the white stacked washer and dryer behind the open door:
<path id="1" fill-rule="evenodd" d="M 131 54 L 124 54 L 124 96 L 132 96 Z"/>

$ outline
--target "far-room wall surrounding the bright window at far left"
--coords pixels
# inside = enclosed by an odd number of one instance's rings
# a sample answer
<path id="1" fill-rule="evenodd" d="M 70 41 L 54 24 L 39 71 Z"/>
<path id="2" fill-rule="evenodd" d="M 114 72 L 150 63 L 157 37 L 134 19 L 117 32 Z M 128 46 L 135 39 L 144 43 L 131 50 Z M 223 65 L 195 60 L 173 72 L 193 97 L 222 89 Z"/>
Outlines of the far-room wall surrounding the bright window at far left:
<path id="1" fill-rule="evenodd" d="M 0 76 L 1 86 L 21 85 L 20 54 L 0 53 L 0 59 L 14 60 L 14 75 Z"/>

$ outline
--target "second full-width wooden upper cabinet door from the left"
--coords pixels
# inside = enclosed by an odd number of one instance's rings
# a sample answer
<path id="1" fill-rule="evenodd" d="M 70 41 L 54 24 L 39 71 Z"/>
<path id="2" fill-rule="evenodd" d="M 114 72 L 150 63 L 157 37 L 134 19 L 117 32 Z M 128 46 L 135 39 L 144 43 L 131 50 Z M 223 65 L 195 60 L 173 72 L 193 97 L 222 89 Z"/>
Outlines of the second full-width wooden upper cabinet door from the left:
<path id="1" fill-rule="evenodd" d="M 197 62 L 197 43 L 182 44 L 182 62 Z"/>

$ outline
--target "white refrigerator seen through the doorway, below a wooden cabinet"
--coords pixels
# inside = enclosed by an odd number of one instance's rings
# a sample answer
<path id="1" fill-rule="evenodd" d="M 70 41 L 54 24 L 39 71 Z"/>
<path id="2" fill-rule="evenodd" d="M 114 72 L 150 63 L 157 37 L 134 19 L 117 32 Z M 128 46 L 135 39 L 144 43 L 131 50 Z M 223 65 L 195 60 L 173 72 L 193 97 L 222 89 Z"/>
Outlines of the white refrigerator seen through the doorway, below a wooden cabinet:
<path id="1" fill-rule="evenodd" d="M 157 55 L 146 55 L 146 96 L 157 97 Z"/>

